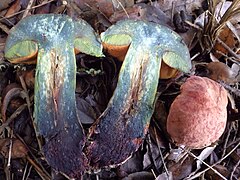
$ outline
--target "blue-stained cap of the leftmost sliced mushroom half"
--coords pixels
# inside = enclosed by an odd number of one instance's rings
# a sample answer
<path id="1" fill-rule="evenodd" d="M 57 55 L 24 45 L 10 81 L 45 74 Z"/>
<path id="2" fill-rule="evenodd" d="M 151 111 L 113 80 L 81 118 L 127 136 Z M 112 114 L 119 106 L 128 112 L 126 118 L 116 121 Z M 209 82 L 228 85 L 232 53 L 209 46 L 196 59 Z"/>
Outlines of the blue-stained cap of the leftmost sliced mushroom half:
<path id="1" fill-rule="evenodd" d="M 29 26 L 31 24 L 31 26 Z M 5 57 L 12 63 L 36 62 L 39 46 L 72 42 L 75 52 L 102 57 L 99 39 L 90 25 L 82 19 L 66 15 L 37 14 L 24 18 L 14 26 L 5 44 Z"/>

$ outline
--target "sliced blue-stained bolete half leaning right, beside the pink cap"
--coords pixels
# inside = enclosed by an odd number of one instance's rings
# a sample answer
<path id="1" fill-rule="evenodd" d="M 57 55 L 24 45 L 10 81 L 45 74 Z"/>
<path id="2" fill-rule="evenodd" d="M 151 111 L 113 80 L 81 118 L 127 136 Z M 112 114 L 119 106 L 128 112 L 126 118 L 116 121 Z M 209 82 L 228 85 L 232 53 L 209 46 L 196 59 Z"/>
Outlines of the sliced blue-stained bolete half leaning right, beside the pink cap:
<path id="1" fill-rule="evenodd" d="M 162 59 L 184 72 L 191 68 L 183 40 L 164 26 L 120 21 L 102 33 L 101 40 L 116 57 L 123 57 L 118 46 L 127 54 L 114 94 L 90 129 L 86 154 L 93 168 L 118 165 L 142 144 L 154 111 Z"/>

